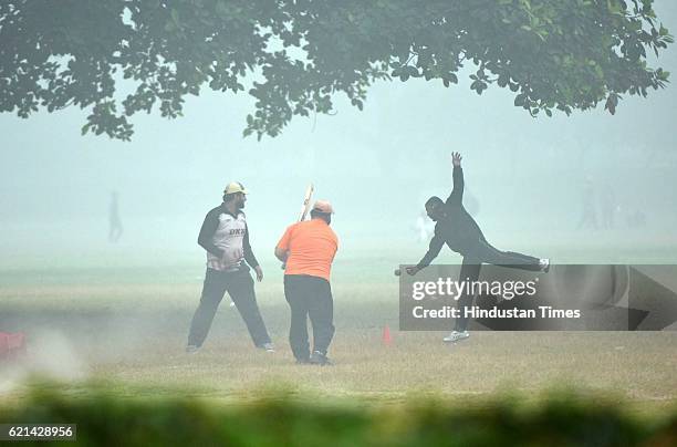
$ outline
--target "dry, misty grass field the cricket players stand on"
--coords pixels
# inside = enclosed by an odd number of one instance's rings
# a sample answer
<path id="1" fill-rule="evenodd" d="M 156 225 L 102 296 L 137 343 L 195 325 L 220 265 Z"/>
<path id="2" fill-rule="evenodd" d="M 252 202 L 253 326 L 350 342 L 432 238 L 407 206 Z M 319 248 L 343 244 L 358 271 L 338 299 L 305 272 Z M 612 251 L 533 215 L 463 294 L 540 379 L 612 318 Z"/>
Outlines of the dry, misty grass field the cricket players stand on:
<path id="1" fill-rule="evenodd" d="M 332 367 L 294 364 L 277 266 L 267 266 L 257 285 L 278 346 L 272 354 L 252 347 L 226 300 L 202 350 L 184 353 L 201 287 L 199 264 L 6 271 L 0 330 L 25 332 L 29 355 L 21 367 L 6 366 L 0 401 L 20 405 L 41 387 L 86 398 L 94 386 L 124 398 L 228 403 L 283 388 L 366 405 L 421 396 L 480 405 L 497 394 L 537 402 L 552 389 L 571 388 L 638 413 L 677 405 L 676 332 L 475 332 L 445 345 L 441 333 L 397 331 L 397 282 L 389 267 L 375 261 L 371 268 L 379 273 L 358 277 L 346 263 L 338 272 Z M 386 324 L 392 345 L 382 343 Z"/>

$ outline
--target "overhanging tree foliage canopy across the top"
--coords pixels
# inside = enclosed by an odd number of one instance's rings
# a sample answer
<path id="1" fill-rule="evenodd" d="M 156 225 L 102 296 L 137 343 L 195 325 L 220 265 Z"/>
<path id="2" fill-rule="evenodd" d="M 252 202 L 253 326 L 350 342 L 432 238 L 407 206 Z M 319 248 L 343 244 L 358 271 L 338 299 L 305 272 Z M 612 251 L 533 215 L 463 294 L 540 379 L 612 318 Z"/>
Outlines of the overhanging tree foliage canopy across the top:
<path id="1" fill-rule="evenodd" d="M 646 96 L 647 65 L 673 42 L 653 0 L 4 0 L 0 112 L 91 111 L 83 134 L 129 139 L 128 117 L 181 115 L 200 90 L 248 91 L 244 135 L 275 136 L 294 115 L 363 107 L 377 80 L 514 92 L 532 115 Z M 126 81 L 123 83 L 122 79 Z M 128 94 L 116 93 L 128 90 Z M 122 87 L 122 89 L 119 89 Z"/>

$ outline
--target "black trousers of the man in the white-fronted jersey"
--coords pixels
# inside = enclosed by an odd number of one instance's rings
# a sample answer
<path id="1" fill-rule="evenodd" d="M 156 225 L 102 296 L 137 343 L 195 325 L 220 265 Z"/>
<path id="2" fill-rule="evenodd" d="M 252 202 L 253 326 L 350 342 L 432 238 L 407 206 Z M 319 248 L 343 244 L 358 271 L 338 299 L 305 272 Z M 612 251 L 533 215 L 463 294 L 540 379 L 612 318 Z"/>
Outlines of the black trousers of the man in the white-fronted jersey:
<path id="1" fill-rule="evenodd" d="M 200 304 L 195 311 L 192 322 L 190 323 L 188 344 L 195 346 L 202 345 L 217 308 L 226 292 L 228 292 L 242 320 L 244 320 L 254 345 L 260 347 L 265 343 L 270 343 L 270 336 L 268 336 L 265 324 L 261 318 L 261 312 L 259 312 L 253 279 L 249 270 L 222 272 L 207 269 Z"/>

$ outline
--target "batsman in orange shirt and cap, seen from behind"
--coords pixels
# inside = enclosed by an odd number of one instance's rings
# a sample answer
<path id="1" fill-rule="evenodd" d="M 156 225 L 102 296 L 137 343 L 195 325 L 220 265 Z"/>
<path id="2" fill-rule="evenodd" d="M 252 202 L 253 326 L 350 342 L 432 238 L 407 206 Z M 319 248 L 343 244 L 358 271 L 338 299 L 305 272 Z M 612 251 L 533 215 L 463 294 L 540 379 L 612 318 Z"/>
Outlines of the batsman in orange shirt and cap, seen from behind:
<path id="1" fill-rule="evenodd" d="M 329 280 L 338 249 L 338 238 L 330 228 L 333 214 L 329 201 L 315 201 L 311 220 L 290 226 L 275 247 L 275 257 L 287 263 L 284 297 L 292 312 L 289 343 L 296 363 L 331 364 L 326 352 L 334 336 L 334 301 Z M 309 316 L 313 326 L 312 353 Z"/>

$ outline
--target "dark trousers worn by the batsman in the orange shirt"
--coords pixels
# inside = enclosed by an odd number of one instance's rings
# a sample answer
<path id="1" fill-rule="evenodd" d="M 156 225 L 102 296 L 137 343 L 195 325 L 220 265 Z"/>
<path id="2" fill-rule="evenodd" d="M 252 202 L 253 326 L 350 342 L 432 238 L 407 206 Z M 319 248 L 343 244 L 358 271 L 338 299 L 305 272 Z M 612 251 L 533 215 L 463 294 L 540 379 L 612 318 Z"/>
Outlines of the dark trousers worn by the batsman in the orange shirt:
<path id="1" fill-rule="evenodd" d="M 285 274 L 284 297 L 292 313 L 289 344 L 294 357 L 302 362 L 310 357 L 309 316 L 313 326 L 313 351 L 326 355 L 334 336 L 334 300 L 329 281 L 305 274 Z"/>

